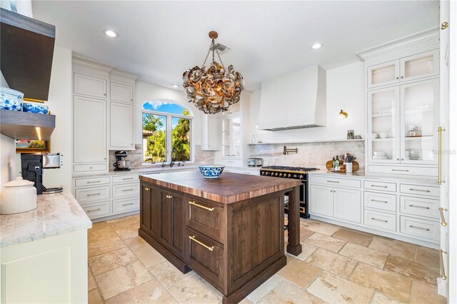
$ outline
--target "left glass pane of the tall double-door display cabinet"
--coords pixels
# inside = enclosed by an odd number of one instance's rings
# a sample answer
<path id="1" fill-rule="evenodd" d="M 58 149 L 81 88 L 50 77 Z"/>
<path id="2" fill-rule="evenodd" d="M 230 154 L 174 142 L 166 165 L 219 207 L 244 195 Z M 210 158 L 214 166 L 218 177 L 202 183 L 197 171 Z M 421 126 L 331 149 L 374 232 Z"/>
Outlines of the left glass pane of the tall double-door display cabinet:
<path id="1" fill-rule="evenodd" d="M 376 161 L 391 161 L 396 159 L 395 89 L 371 93 L 371 159 Z"/>

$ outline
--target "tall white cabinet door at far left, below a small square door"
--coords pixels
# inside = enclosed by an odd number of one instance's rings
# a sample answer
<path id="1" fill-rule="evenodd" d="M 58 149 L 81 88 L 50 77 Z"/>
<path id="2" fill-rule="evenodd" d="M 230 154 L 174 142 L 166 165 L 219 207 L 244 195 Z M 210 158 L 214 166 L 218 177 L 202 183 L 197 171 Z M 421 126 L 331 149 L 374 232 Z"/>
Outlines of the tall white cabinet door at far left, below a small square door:
<path id="1" fill-rule="evenodd" d="M 74 163 L 106 163 L 106 100 L 74 96 Z"/>

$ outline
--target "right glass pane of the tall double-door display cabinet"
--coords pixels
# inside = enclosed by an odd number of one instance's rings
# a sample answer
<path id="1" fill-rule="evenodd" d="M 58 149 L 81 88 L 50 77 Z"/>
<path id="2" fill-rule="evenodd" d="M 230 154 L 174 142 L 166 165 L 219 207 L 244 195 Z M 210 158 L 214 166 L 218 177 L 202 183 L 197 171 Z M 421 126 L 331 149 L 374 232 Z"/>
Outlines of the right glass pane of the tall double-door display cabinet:
<path id="1" fill-rule="evenodd" d="M 406 161 L 435 161 L 433 134 L 436 131 L 435 82 L 422 82 L 403 88 Z"/>

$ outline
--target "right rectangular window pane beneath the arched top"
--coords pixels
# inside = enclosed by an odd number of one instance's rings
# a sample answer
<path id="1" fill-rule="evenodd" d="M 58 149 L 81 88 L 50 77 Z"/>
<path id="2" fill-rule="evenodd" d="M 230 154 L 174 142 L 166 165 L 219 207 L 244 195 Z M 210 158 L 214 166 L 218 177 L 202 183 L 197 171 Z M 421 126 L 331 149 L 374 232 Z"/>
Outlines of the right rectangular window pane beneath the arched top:
<path id="1" fill-rule="evenodd" d="M 171 118 L 171 160 L 191 160 L 191 120 L 187 118 Z"/>

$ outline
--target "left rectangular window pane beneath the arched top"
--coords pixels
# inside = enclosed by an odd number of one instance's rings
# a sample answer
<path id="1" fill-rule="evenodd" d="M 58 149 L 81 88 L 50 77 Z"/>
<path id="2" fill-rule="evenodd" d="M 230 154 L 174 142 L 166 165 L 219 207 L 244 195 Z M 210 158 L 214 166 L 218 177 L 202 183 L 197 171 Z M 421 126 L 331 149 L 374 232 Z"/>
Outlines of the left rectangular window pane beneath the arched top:
<path id="1" fill-rule="evenodd" d="M 143 113 L 143 161 L 166 161 L 166 116 Z"/>

